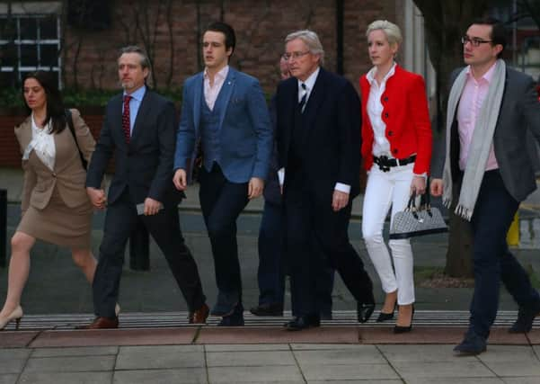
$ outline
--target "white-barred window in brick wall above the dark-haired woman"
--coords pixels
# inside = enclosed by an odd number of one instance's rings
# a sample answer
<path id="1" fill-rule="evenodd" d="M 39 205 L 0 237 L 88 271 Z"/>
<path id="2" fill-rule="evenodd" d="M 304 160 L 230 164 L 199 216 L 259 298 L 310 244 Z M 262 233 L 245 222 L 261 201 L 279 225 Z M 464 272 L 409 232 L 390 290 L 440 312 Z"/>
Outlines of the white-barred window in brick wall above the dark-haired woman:
<path id="1" fill-rule="evenodd" d="M 0 86 L 18 86 L 38 69 L 62 86 L 59 11 L 57 2 L 0 5 Z"/>

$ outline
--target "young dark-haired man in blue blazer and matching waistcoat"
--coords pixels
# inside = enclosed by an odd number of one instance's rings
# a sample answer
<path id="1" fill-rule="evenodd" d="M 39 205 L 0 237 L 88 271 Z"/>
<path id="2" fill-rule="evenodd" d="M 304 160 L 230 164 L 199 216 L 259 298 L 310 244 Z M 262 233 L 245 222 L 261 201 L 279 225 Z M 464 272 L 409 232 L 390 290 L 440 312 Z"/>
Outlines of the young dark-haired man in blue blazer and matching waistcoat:
<path id="1" fill-rule="evenodd" d="M 214 22 L 204 32 L 205 70 L 183 86 L 174 157 L 174 184 L 185 190 L 200 143 L 199 200 L 216 266 L 219 326 L 243 326 L 242 278 L 236 219 L 262 193 L 272 151 L 272 130 L 259 81 L 229 67 L 235 30 Z"/>

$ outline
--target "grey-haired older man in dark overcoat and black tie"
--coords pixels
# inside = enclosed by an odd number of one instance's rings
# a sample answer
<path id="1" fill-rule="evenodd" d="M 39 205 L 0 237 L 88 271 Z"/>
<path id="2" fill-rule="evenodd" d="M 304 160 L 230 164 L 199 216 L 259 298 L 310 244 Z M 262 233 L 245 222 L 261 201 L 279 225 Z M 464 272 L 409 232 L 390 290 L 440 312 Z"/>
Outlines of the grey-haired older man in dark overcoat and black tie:
<path id="1" fill-rule="evenodd" d="M 360 101 L 346 79 L 327 72 L 314 31 L 287 36 L 284 57 L 293 77 L 278 85 L 279 165 L 284 167 L 286 255 L 296 331 L 320 325 L 316 276 L 327 263 L 358 303 L 360 322 L 375 300 L 364 264 L 350 245 L 352 199 L 359 193 Z"/>

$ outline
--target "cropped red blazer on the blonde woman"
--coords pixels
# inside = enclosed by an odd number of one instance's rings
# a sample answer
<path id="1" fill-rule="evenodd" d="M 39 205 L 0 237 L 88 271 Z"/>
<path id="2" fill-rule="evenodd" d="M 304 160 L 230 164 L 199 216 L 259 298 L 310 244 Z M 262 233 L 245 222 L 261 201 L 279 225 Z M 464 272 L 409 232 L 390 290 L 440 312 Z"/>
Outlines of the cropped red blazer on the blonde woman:
<path id="1" fill-rule="evenodd" d="M 371 85 L 367 76 L 360 77 L 362 94 L 362 158 L 367 171 L 373 165 L 373 128 L 367 114 Z M 403 159 L 416 154 L 413 172 L 429 174 L 431 161 L 431 124 L 429 122 L 426 86 L 422 76 L 395 66 L 394 76 L 386 81 L 382 119 L 392 156 Z"/>

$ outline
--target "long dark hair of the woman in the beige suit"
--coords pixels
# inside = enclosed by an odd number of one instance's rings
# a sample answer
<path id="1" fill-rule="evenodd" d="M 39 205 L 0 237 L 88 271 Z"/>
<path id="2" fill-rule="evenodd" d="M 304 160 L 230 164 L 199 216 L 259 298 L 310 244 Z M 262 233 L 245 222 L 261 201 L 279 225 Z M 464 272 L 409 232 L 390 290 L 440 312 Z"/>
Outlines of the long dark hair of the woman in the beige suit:
<path id="1" fill-rule="evenodd" d="M 60 133 L 66 128 L 66 110 L 64 108 L 64 103 L 62 102 L 62 95 L 58 90 L 57 81 L 49 71 L 38 70 L 24 76 L 24 80 L 22 81 L 22 100 L 24 101 L 24 106 L 29 114 L 31 114 L 31 108 L 24 98 L 24 83 L 29 78 L 36 79 L 45 91 L 45 96 L 47 98 L 47 115 L 45 116 L 43 124 L 47 124 L 50 121 L 49 133 Z"/>

